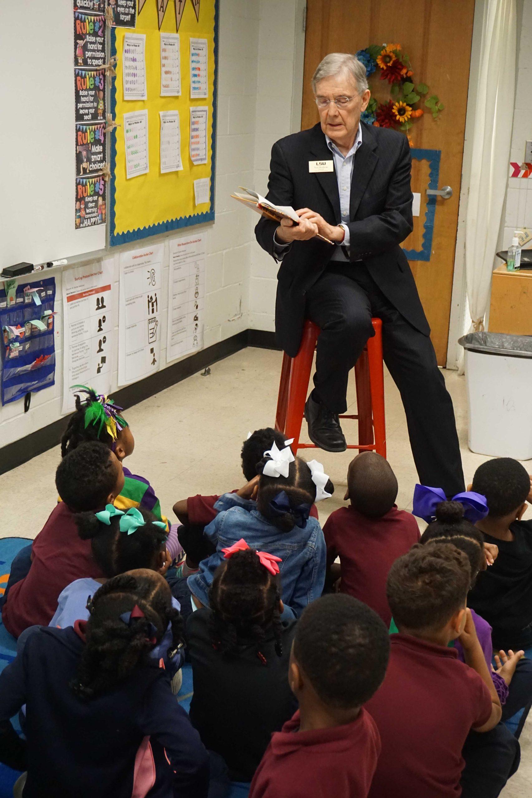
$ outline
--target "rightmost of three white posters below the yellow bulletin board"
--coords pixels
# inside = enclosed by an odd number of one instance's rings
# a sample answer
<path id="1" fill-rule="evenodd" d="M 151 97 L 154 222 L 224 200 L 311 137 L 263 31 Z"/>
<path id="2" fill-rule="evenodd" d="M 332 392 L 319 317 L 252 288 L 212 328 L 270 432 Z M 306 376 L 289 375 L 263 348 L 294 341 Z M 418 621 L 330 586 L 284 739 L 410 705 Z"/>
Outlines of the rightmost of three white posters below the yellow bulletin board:
<path id="1" fill-rule="evenodd" d="M 205 238 L 188 235 L 170 241 L 167 360 L 203 349 Z"/>

